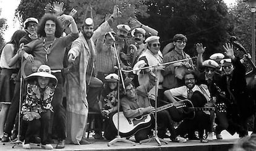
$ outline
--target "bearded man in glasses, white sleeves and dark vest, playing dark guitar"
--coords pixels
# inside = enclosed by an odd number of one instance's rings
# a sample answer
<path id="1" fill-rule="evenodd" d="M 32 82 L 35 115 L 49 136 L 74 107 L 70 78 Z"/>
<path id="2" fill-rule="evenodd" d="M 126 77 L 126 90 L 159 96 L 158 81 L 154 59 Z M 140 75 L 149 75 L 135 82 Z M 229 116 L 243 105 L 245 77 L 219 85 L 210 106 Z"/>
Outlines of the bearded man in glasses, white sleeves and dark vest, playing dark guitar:
<path id="1" fill-rule="evenodd" d="M 187 71 L 184 75 L 185 86 L 173 88 L 164 91 L 164 95 L 171 100 L 171 102 L 177 102 L 173 96 L 182 96 L 186 99 L 190 99 L 194 107 L 203 107 L 210 100 L 210 92 L 206 85 L 197 85 L 195 72 Z M 184 136 L 185 134 L 194 133 L 198 130 L 200 142 L 208 142 L 203 139 L 203 130 L 210 131 L 210 113 L 203 111 L 195 112 L 193 119 L 184 119 L 179 127 L 176 129 L 177 134 Z M 172 115 L 172 114 L 171 114 Z"/>

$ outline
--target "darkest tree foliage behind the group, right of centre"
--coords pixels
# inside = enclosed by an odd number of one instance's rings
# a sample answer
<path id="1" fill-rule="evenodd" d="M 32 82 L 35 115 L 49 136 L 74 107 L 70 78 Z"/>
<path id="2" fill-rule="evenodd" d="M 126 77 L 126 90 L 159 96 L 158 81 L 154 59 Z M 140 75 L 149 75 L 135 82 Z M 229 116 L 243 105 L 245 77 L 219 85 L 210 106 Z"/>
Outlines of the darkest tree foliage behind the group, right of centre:
<path id="1" fill-rule="evenodd" d="M 223 51 L 222 44 L 229 37 L 228 7 L 222 0 L 160 0 L 146 2 L 150 17 L 139 17 L 143 23 L 159 31 L 160 40 L 171 43 L 177 33 L 187 35 L 186 49 L 197 55 L 195 43 L 207 46 L 206 57 Z"/>

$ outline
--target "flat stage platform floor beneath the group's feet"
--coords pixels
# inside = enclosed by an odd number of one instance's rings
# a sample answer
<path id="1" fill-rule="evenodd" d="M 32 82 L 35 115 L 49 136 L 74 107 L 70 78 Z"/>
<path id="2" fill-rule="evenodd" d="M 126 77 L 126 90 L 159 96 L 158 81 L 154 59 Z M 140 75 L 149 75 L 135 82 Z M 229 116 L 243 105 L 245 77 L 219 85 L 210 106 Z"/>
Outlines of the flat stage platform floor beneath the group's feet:
<path id="1" fill-rule="evenodd" d="M 186 143 L 174 143 L 169 141 L 169 139 L 165 139 L 168 141 L 168 144 L 162 144 L 161 146 L 158 146 L 156 142 L 149 142 L 145 144 L 139 144 L 136 143 L 135 146 L 126 144 L 123 142 L 117 142 L 116 144 L 111 145 L 108 147 L 108 142 L 106 140 L 95 140 L 92 137 L 87 139 L 87 141 L 91 142 L 91 144 L 88 145 L 70 145 L 66 144 L 66 147 L 64 149 L 53 149 L 53 150 L 59 150 L 59 151 L 71 151 L 71 150 L 142 150 L 142 151 L 227 151 L 230 149 L 234 143 L 239 139 L 238 136 L 235 134 L 234 136 L 229 135 L 226 131 L 223 131 L 221 133 L 223 135 L 223 140 L 214 140 L 208 143 L 201 143 L 199 141 L 187 141 Z M 213 137 L 216 139 L 216 137 Z M 133 138 L 130 138 L 131 141 L 134 141 Z M 5 145 L 1 143 L 0 150 L 1 151 L 9 151 L 9 150 L 24 150 L 22 149 L 22 144 L 17 145 L 14 149 L 12 149 L 13 144 L 6 143 Z M 37 147 L 36 145 L 32 145 L 33 149 L 30 150 L 43 150 L 40 147 Z M 53 147 L 55 147 L 55 144 L 53 144 Z"/>

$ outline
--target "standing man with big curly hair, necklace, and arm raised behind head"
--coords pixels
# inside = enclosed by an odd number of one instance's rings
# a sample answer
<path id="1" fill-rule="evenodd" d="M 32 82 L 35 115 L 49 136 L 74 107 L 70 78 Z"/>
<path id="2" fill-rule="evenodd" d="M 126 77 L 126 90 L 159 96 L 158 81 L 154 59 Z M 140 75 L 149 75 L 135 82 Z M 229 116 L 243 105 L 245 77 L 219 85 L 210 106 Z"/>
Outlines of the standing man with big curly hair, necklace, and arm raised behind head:
<path id="1" fill-rule="evenodd" d="M 61 36 L 63 31 L 62 22 L 70 23 L 72 31 L 70 35 Z M 34 55 L 38 60 L 51 68 L 53 75 L 59 81 L 53 96 L 54 118 L 52 117 L 51 120 L 54 119 L 54 122 L 59 125 L 57 129 L 58 144 L 56 145 L 56 149 L 62 149 L 65 147 L 64 139 L 66 138 L 66 114 L 62 105 L 62 62 L 65 48 L 78 38 L 79 31 L 71 15 L 64 14 L 56 17 L 53 14 L 45 14 L 38 25 L 38 35 L 41 38 L 25 45 L 20 50 L 20 54 L 31 63 L 34 62 Z"/>

